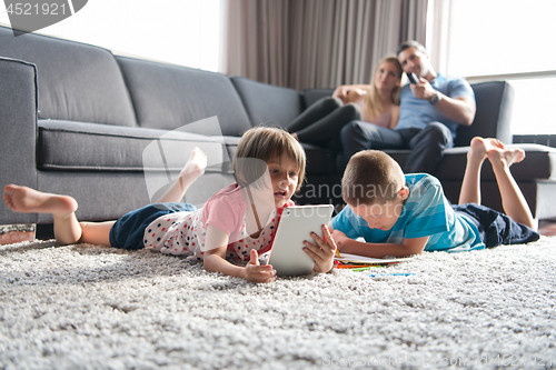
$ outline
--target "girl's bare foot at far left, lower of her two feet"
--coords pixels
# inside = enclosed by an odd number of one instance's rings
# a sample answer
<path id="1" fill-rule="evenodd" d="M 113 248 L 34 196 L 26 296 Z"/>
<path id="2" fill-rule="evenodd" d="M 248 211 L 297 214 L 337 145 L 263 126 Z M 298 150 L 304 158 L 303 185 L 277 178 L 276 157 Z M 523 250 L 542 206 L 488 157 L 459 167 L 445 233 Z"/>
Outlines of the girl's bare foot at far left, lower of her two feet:
<path id="1" fill-rule="evenodd" d="M 64 216 L 77 210 L 77 201 L 69 196 L 46 193 L 16 184 L 3 188 L 3 201 L 12 211 L 21 213 Z"/>

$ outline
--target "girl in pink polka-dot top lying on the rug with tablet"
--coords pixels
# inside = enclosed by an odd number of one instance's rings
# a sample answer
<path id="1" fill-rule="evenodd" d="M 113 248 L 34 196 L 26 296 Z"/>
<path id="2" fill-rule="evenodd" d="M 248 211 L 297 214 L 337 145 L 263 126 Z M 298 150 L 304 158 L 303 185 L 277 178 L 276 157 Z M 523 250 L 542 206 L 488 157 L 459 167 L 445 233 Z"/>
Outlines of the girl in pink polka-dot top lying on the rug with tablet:
<path id="1" fill-rule="evenodd" d="M 291 134 L 258 127 L 247 131 L 238 144 L 234 159 L 236 182 L 198 210 L 179 202 L 205 172 L 207 159 L 198 148 L 159 203 L 131 211 L 117 221 L 79 222 L 73 198 L 27 187 L 4 187 L 3 199 L 14 212 L 51 213 L 54 237 L 61 244 L 82 242 L 186 254 L 202 260 L 207 271 L 270 282 L 276 271 L 269 264 L 260 266 L 258 256 L 271 249 L 281 211 L 294 206 L 290 199 L 301 187 L 305 163 L 305 151 Z M 315 243 L 305 243 L 316 272 L 327 272 L 334 266 L 336 244 L 327 227 L 322 232 L 324 239 L 312 233 Z M 235 266 L 227 257 L 249 263 Z"/>

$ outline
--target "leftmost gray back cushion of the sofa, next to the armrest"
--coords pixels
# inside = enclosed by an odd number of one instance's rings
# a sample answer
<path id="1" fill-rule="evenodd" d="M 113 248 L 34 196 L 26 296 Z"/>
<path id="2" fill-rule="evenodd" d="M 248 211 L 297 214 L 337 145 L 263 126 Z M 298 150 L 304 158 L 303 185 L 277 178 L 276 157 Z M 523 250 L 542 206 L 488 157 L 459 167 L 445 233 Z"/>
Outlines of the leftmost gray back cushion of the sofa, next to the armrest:
<path id="1" fill-rule="evenodd" d="M 106 49 L 0 27 L 0 56 L 34 63 L 42 118 L 136 126 L 123 79 Z"/>

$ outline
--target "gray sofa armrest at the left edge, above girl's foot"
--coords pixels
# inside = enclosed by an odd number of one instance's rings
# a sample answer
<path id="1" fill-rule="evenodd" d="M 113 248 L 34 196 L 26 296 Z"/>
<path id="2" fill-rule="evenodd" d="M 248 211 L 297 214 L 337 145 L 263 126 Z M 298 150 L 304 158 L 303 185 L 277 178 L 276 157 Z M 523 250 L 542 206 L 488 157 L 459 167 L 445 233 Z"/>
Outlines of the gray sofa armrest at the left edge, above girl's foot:
<path id="1" fill-rule="evenodd" d="M 0 188 L 8 183 L 37 189 L 37 68 L 0 58 Z M 14 213 L 0 203 L 0 224 L 36 223 L 34 213 Z"/>

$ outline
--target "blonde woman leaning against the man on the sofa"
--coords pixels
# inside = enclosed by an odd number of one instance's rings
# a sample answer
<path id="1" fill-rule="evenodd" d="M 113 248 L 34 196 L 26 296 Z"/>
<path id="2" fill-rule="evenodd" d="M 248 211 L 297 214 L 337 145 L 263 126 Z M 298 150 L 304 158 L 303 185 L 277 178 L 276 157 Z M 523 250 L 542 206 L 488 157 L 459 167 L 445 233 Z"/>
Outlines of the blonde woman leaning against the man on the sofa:
<path id="1" fill-rule="evenodd" d="M 378 62 L 370 84 L 342 84 L 331 98 L 325 98 L 305 110 L 288 126 L 301 142 L 335 151 L 340 149 L 341 128 L 353 121 L 394 128 L 399 117 L 401 66 L 396 57 Z"/>

